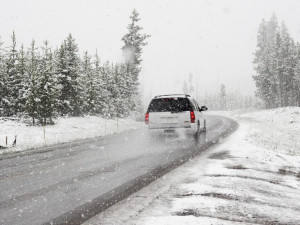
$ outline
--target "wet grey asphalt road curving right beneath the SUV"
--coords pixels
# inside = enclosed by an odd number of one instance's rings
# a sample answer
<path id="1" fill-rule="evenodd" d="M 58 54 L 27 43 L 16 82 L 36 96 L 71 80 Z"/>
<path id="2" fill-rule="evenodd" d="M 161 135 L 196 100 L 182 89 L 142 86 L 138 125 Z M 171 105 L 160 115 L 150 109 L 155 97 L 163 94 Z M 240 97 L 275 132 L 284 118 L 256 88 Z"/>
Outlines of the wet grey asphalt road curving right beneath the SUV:
<path id="1" fill-rule="evenodd" d="M 0 224 L 80 224 L 205 151 L 237 127 L 207 117 L 207 133 L 110 137 L 0 156 Z"/>

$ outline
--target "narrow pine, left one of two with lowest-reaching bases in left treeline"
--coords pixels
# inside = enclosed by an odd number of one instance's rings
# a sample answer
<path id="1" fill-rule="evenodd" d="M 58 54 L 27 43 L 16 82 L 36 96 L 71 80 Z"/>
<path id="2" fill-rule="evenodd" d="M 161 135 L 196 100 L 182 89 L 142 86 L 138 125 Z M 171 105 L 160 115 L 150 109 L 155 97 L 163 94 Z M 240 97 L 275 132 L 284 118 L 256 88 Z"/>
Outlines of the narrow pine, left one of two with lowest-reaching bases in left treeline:
<path id="1" fill-rule="evenodd" d="M 28 53 L 28 88 L 25 92 L 25 110 L 28 115 L 32 118 L 32 124 L 35 125 L 36 119 L 38 117 L 38 104 L 40 102 L 38 96 L 38 64 L 39 55 L 37 53 L 37 48 L 35 47 L 35 41 L 31 43 L 31 48 Z"/>

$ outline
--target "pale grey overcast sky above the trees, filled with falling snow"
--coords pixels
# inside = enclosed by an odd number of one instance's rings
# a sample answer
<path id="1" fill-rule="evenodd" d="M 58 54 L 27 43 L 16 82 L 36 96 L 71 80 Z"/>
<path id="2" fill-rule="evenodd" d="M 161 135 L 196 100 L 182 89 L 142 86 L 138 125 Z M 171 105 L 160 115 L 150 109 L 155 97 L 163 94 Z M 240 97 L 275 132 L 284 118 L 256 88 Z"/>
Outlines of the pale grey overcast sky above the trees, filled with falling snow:
<path id="1" fill-rule="evenodd" d="M 102 61 L 122 61 L 121 37 L 135 8 L 151 35 L 144 48 L 145 96 L 182 93 L 189 73 L 198 94 L 228 91 L 253 95 L 252 60 L 257 28 L 273 12 L 300 41 L 298 0 L 0 0 L 0 36 L 29 47 L 48 40 L 59 46 L 69 33 L 80 52 L 96 49 Z M 195 85 L 196 86 L 196 85 Z"/>

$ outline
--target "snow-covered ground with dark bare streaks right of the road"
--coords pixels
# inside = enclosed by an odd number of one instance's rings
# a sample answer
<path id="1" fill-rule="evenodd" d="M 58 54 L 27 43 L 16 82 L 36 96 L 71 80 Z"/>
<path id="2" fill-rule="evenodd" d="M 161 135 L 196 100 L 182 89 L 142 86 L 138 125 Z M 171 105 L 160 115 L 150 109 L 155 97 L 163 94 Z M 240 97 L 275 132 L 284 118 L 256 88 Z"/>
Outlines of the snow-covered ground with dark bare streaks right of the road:
<path id="1" fill-rule="evenodd" d="M 86 224 L 300 224 L 300 108 L 218 114 L 239 129 Z"/>

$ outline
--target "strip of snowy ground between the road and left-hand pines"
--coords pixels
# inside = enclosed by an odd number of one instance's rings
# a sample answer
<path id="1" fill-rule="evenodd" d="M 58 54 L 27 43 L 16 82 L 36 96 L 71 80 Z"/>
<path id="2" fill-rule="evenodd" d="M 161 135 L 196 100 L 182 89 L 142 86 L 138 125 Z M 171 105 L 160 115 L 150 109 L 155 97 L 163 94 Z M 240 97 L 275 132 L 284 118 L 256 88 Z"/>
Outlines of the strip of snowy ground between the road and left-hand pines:
<path id="1" fill-rule="evenodd" d="M 16 152 L 74 140 L 95 138 L 143 127 L 144 123 L 131 119 L 105 120 L 100 117 L 59 118 L 53 126 L 28 126 L 16 120 L 0 117 L 0 146 L 11 146 L 17 136 L 17 145 L 0 149 L 0 154 Z"/>

